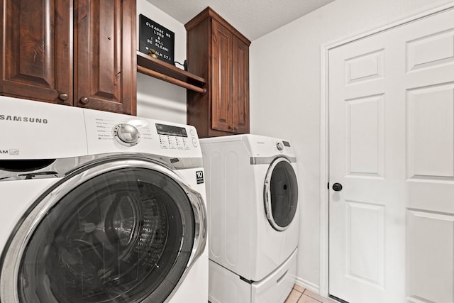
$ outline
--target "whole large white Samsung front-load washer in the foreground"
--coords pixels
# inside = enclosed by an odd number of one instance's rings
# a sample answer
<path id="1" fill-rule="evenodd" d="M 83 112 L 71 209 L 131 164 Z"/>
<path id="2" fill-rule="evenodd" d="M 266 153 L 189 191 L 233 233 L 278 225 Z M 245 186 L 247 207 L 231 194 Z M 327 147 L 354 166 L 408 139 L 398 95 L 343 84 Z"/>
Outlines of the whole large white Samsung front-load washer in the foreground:
<path id="1" fill-rule="evenodd" d="M 192 126 L 0 97 L 0 301 L 206 302 Z"/>

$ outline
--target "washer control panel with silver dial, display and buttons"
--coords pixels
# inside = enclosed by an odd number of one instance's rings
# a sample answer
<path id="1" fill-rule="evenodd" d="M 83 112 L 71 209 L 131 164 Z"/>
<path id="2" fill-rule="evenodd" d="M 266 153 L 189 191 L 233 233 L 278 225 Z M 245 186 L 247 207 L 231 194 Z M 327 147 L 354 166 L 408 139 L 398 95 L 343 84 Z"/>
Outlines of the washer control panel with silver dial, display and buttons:
<path id="1" fill-rule="evenodd" d="M 84 109 L 89 154 L 148 153 L 165 157 L 201 157 L 194 126 Z"/>

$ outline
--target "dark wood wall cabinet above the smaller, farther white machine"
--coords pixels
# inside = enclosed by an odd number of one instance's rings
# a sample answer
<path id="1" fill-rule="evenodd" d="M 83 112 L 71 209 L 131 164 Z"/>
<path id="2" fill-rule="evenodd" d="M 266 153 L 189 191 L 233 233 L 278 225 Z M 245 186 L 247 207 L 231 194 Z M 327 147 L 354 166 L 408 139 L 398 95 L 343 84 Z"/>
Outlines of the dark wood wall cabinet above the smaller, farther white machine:
<path id="1" fill-rule="evenodd" d="M 210 8 L 185 27 L 188 71 L 208 87 L 187 92 L 187 123 L 200 137 L 249 133 L 250 41 Z"/>

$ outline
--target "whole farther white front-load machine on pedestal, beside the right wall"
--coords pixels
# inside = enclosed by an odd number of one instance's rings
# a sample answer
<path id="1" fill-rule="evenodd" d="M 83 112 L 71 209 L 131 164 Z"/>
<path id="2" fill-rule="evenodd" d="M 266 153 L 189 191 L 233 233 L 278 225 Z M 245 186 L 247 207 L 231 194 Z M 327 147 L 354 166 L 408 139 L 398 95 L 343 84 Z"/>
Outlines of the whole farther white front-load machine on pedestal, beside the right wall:
<path id="1" fill-rule="evenodd" d="M 201 139 L 211 302 L 284 302 L 296 280 L 297 163 L 289 141 Z"/>

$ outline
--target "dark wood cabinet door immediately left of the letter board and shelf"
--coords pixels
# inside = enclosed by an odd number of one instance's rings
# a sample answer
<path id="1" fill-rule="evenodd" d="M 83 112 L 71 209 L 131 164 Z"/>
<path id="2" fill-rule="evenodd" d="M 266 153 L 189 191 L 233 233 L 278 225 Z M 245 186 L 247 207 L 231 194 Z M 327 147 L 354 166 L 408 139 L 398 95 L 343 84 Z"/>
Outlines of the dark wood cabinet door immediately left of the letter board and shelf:
<path id="1" fill-rule="evenodd" d="M 76 0 L 74 105 L 135 114 L 135 0 Z"/>

